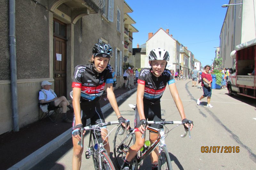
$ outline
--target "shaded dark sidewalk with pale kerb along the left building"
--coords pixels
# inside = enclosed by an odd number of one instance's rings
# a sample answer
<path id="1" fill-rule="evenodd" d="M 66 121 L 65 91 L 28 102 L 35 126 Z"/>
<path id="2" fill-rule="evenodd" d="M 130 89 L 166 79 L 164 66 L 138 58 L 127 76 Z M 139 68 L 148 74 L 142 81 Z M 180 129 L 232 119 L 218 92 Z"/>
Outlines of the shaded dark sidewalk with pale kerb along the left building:
<path id="1" fill-rule="evenodd" d="M 134 87 L 131 90 L 115 89 L 117 102 L 135 92 L 136 89 Z M 100 103 L 103 113 L 112 108 L 107 94 L 102 95 Z M 73 113 L 68 111 L 67 117 L 72 120 Z M 9 167 L 10 169 L 29 169 L 31 164 L 38 163 L 65 143 L 71 137 L 71 127 L 72 123 L 62 122 L 60 117 L 55 123 L 46 117 L 40 122 L 37 121 L 21 128 L 19 132 L 7 132 L 0 135 L 0 169 Z"/>

